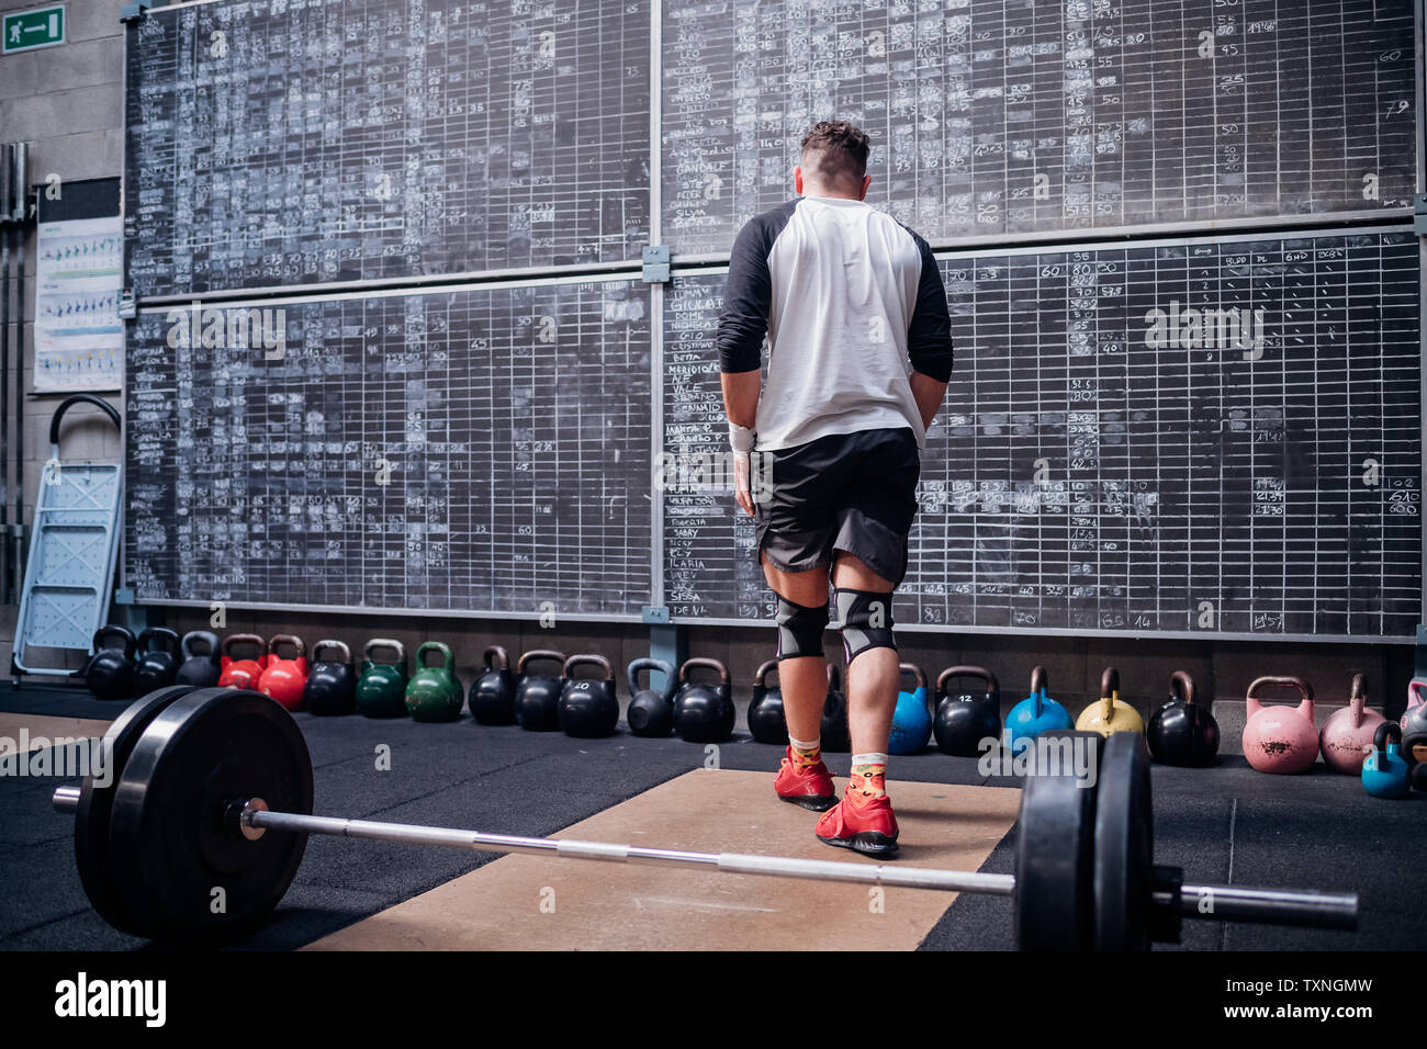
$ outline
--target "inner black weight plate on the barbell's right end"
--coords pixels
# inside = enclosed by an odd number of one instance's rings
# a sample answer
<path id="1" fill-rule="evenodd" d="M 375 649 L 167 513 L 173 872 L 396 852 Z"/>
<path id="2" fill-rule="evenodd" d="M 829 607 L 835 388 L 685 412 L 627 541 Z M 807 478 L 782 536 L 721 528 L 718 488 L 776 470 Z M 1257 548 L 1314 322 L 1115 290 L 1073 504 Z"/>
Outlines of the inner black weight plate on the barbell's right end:
<path id="1" fill-rule="evenodd" d="M 1015 926 L 1020 951 L 1089 951 L 1096 791 L 1027 776 L 1020 795 Z"/>

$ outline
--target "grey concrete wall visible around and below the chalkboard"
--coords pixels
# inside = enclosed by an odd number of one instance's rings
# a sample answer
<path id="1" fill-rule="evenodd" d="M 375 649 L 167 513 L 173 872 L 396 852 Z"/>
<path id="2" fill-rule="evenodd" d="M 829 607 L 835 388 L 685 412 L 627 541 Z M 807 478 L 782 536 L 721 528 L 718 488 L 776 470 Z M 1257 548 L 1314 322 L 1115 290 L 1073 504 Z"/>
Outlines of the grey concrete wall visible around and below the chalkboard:
<path id="1" fill-rule="evenodd" d="M 0 10 L 34 6 L 33 0 L 0 0 Z M 70 43 L 27 54 L 0 59 L 0 140 L 31 143 L 33 178 L 50 171 L 61 178 L 97 178 L 120 174 L 123 157 L 123 37 L 118 11 L 121 0 L 83 0 L 68 4 Z M 34 243 L 29 244 L 24 293 L 26 361 L 23 382 L 30 388 L 30 320 L 34 310 Z M 13 335 L 13 333 L 11 333 Z M 29 398 L 26 410 L 26 505 L 33 505 L 40 465 L 49 455 L 46 430 L 59 397 Z M 67 458 L 117 458 L 118 441 L 97 412 L 83 408 L 68 418 L 64 452 Z M 90 418 L 90 421 L 84 421 Z M 144 609 L 138 609 L 141 614 Z M 0 609 L 0 658 L 9 652 L 14 608 Z M 153 622 L 167 621 L 180 632 L 207 627 L 207 612 L 148 609 Z M 228 631 L 251 631 L 263 637 L 294 632 L 308 644 L 321 638 L 347 641 L 354 649 L 371 637 L 395 637 L 410 652 L 424 639 L 455 645 L 459 672 L 469 682 L 481 651 L 504 644 L 512 658 L 527 648 L 552 647 L 565 652 L 598 651 L 624 667 L 646 654 L 648 634 L 639 627 L 571 625 L 542 631 L 535 624 L 507 621 L 275 615 L 234 611 Z M 1100 671 L 1120 668 L 1124 696 L 1147 706 L 1163 699 L 1169 675 L 1187 669 L 1196 679 L 1202 701 L 1216 698 L 1240 705 L 1250 679 L 1260 674 L 1297 672 L 1309 678 L 1319 698 L 1340 704 L 1347 696 L 1354 672 L 1367 675 L 1370 701 L 1388 709 L 1403 704 L 1411 674 L 1410 647 L 1281 645 L 1274 642 L 1172 642 L 1172 641 L 1085 641 L 1063 638 L 915 635 L 903 634 L 906 657 L 929 675 L 956 662 L 982 664 L 999 675 L 1006 705 L 1022 698 L 1030 668 L 1045 664 L 1052 694 L 1079 711 L 1095 698 Z M 829 652 L 838 649 L 829 637 Z M 735 695 L 748 696 L 753 668 L 772 652 L 772 634 L 761 628 L 704 628 L 689 634 L 691 655 L 712 655 L 729 664 Z M 622 674 L 621 674 L 622 676 Z M 621 692 L 624 689 L 621 688 Z M 1226 708 L 1229 714 L 1232 708 Z M 1227 728 L 1227 724 L 1226 724 Z M 1237 742 L 1237 734 L 1227 734 Z"/>

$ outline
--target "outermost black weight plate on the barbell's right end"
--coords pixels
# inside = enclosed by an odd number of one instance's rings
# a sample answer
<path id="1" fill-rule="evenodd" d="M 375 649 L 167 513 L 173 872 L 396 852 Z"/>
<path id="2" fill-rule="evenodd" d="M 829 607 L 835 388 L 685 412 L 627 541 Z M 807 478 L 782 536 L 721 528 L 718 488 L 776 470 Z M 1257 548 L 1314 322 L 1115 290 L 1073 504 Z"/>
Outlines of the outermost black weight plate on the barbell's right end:
<path id="1" fill-rule="evenodd" d="M 1095 949 L 1149 951 L 1154 826 L 1139 732 L 1104 744 L 1095 805 Z"/>

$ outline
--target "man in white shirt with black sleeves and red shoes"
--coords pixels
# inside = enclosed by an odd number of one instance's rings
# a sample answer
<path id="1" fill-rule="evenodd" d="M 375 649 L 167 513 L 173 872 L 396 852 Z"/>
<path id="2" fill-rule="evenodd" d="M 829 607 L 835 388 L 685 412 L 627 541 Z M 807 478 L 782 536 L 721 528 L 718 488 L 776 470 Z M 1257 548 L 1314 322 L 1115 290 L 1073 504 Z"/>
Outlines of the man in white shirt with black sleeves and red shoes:
<path id="1" fill-rule="evenodd" d="M 758 524 L 778 595 L 778 671 L 791 744 L 773 789 L 822 811 L 816 835 L 896 853 L 886 796 L 899 686 L 892 591 L 926 428 L 952 373 L 950 318 L 932 251 L 865 203 L 868 136 L 843 120 L 802 140 L 793 190 L 751 220 L 729 260 L 718 350 L 738 504 Z M 768 387 L 761 390 L 768 337 Z M 749 458 L 761 454 L 755 505 Z M 848 658 L 852 778 L 838 801 L 821 756 L 828 584 Z"/>

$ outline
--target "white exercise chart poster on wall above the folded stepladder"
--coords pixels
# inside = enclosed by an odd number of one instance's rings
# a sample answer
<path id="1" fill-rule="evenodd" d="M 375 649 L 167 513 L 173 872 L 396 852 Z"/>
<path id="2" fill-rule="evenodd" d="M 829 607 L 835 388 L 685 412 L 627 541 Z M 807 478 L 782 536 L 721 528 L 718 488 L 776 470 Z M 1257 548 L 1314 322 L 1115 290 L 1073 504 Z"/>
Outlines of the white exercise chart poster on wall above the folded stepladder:
<path id="1" fill-rule="evenodd" d="M 40 221 L 34 293 L 34 391 L 118 390 L 123 220 Z"/>

